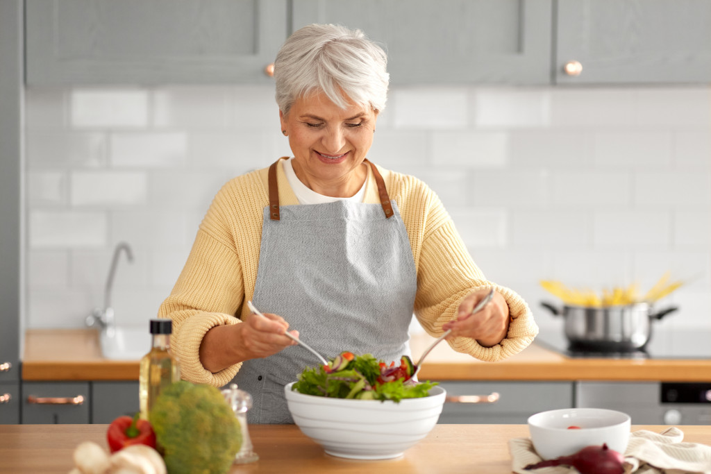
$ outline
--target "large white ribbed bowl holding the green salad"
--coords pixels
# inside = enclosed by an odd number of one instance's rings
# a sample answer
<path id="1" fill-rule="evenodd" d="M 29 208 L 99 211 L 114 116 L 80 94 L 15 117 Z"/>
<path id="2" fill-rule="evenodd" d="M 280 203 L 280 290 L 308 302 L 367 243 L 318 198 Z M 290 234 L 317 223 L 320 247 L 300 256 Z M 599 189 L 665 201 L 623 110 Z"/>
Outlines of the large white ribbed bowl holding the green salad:
<path id="1" fill-rule="evenodd" d="M 437 385 L 429 397 L 395 403 L 316 397 L 294 392 L 292 385 L 284 392 L 296 426 L 326 453 L 351 459 L 402 456 L 432 431 L 447 395 Z"/>

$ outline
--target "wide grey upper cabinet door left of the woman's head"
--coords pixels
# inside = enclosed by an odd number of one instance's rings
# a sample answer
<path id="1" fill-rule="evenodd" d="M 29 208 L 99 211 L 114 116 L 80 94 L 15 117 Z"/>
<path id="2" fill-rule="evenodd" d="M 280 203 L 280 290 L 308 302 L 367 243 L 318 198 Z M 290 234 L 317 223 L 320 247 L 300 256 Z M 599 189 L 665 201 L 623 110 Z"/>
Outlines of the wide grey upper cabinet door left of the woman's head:
<path id="1" fill-rule="evenodd" d="M 269 83 L 287 0 L 28 0 L 28 85 Z"/>

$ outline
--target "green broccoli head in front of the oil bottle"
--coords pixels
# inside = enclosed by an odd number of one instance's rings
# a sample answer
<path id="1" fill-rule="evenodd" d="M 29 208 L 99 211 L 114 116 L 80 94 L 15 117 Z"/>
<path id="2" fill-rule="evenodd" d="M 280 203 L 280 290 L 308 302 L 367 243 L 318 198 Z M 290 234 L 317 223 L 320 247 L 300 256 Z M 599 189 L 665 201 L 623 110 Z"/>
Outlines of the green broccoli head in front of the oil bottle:
<path id="1" fill-rule="evenodd" d="M 170 474 L 223 474 L 242 446 L 240 423 L 219 389 L 184 380 L 166 387 L 149 414 Z"/>

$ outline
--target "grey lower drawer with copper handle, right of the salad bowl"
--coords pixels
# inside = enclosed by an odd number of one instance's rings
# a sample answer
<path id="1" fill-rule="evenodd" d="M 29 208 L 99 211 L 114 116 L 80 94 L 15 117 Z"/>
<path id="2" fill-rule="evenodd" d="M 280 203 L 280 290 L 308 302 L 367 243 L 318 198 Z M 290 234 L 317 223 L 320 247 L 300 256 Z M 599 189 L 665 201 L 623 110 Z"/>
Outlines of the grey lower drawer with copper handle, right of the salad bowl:
<path id="1" fill-rule="evenodd" d="M 525 424 L 538 413 L 573 406 L 573 382 L 440 382 L 447 399 L 441 424 Z M 470 403 L 467 396 L 489 397 L 498 394 L 496 402 Z M 494 397 L 492 397 L 494 398 Z"/>

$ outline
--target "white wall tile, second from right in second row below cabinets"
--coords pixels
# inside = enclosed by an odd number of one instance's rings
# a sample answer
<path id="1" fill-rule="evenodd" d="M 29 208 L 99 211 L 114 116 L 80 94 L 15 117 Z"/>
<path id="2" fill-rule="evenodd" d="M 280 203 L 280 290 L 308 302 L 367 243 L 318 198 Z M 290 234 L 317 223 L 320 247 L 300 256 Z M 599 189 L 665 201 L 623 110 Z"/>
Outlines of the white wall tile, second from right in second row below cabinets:
<path id="1" fill-rule="evenodd" d="M 597 168 L 666 169 L 671 164 L 670 131 L 614 131 L 595 134 Z"/>

